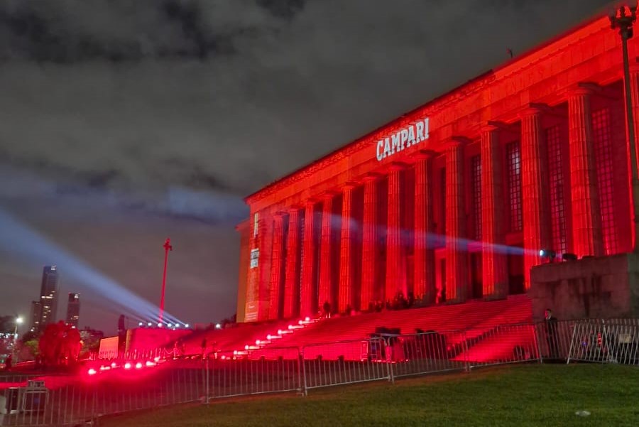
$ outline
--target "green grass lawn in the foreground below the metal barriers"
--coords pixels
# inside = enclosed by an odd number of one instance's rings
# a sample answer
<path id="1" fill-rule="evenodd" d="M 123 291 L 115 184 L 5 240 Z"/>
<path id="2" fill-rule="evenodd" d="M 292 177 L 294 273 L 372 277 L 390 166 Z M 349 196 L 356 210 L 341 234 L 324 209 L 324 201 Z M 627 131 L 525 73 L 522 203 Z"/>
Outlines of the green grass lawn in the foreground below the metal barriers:
<path id="1" fill-rule="evenodd" d="M 577 416 L 576 411 L 589 411 Z M 639 368 L 547 364 L 482 369 L 396 384 L 172 406 L 104 418 L 145 426 L 639 426 Z"/>

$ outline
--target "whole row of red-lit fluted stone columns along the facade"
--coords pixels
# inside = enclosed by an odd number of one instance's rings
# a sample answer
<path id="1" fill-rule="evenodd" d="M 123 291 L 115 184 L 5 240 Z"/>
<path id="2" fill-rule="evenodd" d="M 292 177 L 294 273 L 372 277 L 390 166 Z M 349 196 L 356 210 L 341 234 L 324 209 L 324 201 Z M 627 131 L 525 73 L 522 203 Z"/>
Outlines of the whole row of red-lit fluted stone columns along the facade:
<path id="1" fill-rule="evenodd" d="M 579 88 L 568 99 L 569 163 L 571 174 L 572 237 L 573 250 L 579 255 L 603 253 L 601 216 L 596 189 L 593 136 L 589 107 L 590 92 Z M 521 173 L 523 195 L 523 247 L 525 287 L 530 286 L 530 268 L 540 263 L 538 250 L 552 247 L 550 225 L 550 183 L 548 182 L 548 158 L 542 135 L 542 110 L 531 107 L 521 114 Z M 500 128 L 487 125 L 481 130 L 481 236 L 482 281 L 484 296 L 503 297 L 508 293 L 508 261 L 506 247 L 503 151 L 499 141 Z M 464 146 L 466 139 L 453 138 L 445 144 L 445 232 L 446 271 L 445 293 L 448 301 L 464 301 L 469 291 L 469 271 L 466 243 L 466 206 L 464 203 Z M 403 164 L 388 168 L 388 218 L 386 230 L 386 277 L 384 293 L 393 298 L 396 293 L 406 295 L 405 251 L 402 248 L 401 227 L 406 197 L 414 197 L 415 267 L 413 292 L 425 296 L 427 301 L 436 298 L 435 256 L 429 243 L 432 230 L 432 168 L 430 159 L 434 153 L 420 151 L 414 159 L 415 193 L 405 194 L 402 173 Z M 319 200 L 307 200 L 305 207 L 294 207 L 275 216 L 273 228 L 273 252 L 271 256 L 271 309 L 270 318 L 277 318 L 283 296 L 283 317 L 310 315 L 324 301 L 337 301 L 340 311 L 360 307 L 366 309 L 376 297 L 376 275 L 380 269 L 377 242 L 378 230 L 378 182 L 381 175 L 366 175 L 364 186 L 364 215 L 361 245 L 361 283 L 355 283 L 354 212 L 353 193 L 356 183 L 342 188 L 341 212 L 335 212 L 337 193 L 325 195 L 322 201 L 322 225 L 320 235 L 315 232 L 315 205 Z M 303 212 L 303 213 L 302 213 Z M 302 236 L 301 220 L 304 215 Z M 336 224 L 337 222 L 337 224 Z M 288 229 L 288 232 L 285 230 Z M 336 231 L 337 230 L 337 231 Z M 339 237 L 334 233 L 339 232 Z M 285 236 L 287 237 L 284 241 Z M 339 274 L 336 274 L 334 244 L 339 239 Z M 302 247 L 303 246 L 303 247 Z M 315 251 L 320 250 L 319 263 Z M 303 261 L 301 253 L 303 252 Z M 285 253 L 285 256 L 284 256 Z M 303 264 L 300 266 L 300 262 Z M 301 277 L 300 277 L 301 274 Z M 318 293 L 315 295 L 315 278 L 319 276 Z M 337 283 L 336 283 L 337 281 Z M 300 286 L 301 283 L 301 286 Z M 356 298 L 356 289 L 360 296 Z M 337 298 L 335 296 L 337 293 Z M 299 311 L 297 310 L 299 308 Z"/>

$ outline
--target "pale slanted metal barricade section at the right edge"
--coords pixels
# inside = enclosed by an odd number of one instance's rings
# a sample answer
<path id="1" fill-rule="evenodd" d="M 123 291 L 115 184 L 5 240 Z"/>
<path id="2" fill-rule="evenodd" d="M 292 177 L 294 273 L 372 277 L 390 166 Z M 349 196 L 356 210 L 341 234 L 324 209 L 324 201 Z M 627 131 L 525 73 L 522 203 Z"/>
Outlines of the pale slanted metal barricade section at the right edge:
<path id="1" fill-rule="evenodd" d="M 570 361 L 639 364 L 639 320 L 579 320 L 575 322 Z"/>

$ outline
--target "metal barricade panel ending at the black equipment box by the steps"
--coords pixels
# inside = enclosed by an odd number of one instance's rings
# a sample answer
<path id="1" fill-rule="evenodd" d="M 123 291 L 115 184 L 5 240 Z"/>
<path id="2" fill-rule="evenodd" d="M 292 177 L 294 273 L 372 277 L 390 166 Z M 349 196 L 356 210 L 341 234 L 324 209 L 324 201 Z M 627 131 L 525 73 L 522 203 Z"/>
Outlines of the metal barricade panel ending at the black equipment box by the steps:
<path id="1" fill-rule="evenodd" d="M 339 384 L 391 380 L 388 340 L 348 340 L 302 347 L 303 392 Z"/>

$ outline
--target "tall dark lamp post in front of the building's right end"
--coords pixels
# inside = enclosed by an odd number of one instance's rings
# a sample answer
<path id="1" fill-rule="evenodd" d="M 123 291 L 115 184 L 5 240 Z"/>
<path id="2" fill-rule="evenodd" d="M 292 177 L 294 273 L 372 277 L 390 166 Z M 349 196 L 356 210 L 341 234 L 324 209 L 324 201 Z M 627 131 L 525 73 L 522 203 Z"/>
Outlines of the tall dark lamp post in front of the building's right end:
<path id="1" fill-rule="evenodd" d="M 623 87 L 626 91 L 626 126 L 628 129 L 628 148 L 630 151 L 630 177 L 633 190 L 633 252 L 639 252 L 639 171 L 637 170 L 637 147 L 635 146 L 635 123 L 633 121 L 633 99 L 630 89 L 630 63 L 628 60 L 628 39 L 633 38 L 633 24 L 637 19 L 637 6 L 621 6 L 610 14 L 613 30 L 621 36 L 623 50 Z"/>

